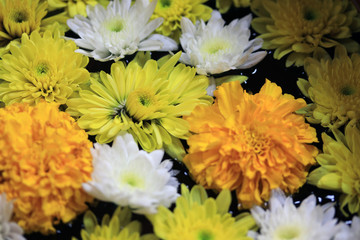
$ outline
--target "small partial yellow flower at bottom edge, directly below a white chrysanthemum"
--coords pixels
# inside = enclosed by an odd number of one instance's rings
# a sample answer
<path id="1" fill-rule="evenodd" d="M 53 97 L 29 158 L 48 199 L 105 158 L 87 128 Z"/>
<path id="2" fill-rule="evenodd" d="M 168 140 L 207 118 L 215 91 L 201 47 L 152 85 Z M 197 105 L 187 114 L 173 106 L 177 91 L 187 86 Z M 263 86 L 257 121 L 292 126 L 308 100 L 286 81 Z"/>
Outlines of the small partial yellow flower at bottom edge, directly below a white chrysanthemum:
<path id="1" fill-rule="evenodd" d="M 96 216 L 91 211 L 84 215 L 85 229 L 81 230 L 82 240 L 157 240 L 154 234 L 140 236 L 141 225 L 138 221 L 131 221 L 129 208 L 118 207 L 111 219 L 105 215 L 99 225 Z M 73 238 L 76 240 L 76 238 Z"/>

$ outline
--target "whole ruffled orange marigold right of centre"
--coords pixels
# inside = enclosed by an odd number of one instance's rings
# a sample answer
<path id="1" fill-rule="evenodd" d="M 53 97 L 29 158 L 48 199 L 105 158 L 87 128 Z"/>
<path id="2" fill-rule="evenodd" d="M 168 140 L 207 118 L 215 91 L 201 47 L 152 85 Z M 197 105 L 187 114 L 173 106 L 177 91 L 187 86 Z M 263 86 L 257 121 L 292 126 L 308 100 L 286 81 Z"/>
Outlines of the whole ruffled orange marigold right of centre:
<path id="1" fill-rule="evenodd" d="M 184 163 L 196 182 L 236 190 L 243 208 L 262 204 L 272 189 L 293 193 L 315 163 L 316 131 L 294 111 L 306 105 L 266 81 L 255 95 L 238 82 L 214 92 L 215 104 L 197 106 L 185 119 L 194 135 Z"/>

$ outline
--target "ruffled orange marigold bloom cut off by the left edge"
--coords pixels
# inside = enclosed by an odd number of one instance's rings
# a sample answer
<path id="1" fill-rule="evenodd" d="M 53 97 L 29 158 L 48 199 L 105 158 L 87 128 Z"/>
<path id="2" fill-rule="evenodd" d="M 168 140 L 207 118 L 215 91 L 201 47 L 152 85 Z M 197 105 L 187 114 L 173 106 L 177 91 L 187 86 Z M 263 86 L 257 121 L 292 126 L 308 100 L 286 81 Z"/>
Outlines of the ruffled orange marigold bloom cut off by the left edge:
<path id="1" fill-rule="evenodd" d="M 25 232 L 55 232 L 85 211 L 91 197 L 91 142 L 58 104 L 14 103 L 0 109 L 0 192 L 14 201 L 14 220 Z"/>

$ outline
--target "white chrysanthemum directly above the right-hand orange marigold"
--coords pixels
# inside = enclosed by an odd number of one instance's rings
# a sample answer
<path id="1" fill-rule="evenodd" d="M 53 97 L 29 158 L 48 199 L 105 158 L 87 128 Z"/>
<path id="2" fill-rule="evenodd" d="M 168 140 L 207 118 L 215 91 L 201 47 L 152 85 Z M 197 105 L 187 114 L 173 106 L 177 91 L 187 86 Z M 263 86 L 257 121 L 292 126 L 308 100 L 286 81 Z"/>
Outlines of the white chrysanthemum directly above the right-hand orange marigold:
<path id="1" fill-rule="evenodd" d="M 263 40 L 249 41 L 251 19 L 249 14 L 224 26 L 218 11 L 212 12 L 207 24 L 201 20 L 194 25 L 188 18 L 182 18 L 180 43 L 184 53 L 180 61 L 195 66 L 202 75 L 254 66 L 266 52 L 254 52 L 261 48 Z"/>

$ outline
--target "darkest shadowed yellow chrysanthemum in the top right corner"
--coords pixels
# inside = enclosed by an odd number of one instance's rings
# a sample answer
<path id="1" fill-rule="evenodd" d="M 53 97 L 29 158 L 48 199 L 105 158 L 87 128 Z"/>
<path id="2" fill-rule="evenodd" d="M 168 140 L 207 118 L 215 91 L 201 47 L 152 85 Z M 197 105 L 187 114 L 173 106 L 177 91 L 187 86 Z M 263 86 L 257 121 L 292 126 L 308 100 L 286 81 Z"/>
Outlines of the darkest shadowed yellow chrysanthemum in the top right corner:
<path id="1" fill-rule="evenodd" d="M 359 44 L 350 39 L 360 31 L 357 10 L 348 0 L 253 0 L 259 17 L 252 27 L 260 33 L 264 49 L 275 49 L 274 58 L 287 57 L 286 66 L 302 66 L 318 48 L 344 44 L 349 52 Z"/>

